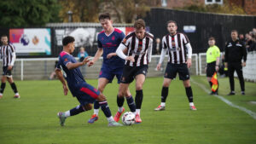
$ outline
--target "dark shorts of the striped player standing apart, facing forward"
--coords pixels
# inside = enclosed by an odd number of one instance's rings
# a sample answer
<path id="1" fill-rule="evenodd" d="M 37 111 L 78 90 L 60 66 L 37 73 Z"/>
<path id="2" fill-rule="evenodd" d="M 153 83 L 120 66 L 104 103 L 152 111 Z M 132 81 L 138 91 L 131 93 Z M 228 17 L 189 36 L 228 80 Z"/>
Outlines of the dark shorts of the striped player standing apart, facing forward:
<path id="1" fill-rule="evenodd" d="M 179 80 L 189 79 L 189 68 L 187 64 L 172 64 L 168 62 L 166 66 L 165 78 L 174 79 L 178 73 Z"/>

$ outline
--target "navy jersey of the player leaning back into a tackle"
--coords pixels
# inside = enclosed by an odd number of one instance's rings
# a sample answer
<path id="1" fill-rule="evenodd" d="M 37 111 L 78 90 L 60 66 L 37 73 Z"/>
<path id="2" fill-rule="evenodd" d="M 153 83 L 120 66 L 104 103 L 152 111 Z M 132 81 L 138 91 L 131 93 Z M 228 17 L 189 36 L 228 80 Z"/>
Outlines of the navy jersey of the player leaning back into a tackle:
<path id="1" fill-rule="evenodd" d="M 67 69 L 68 63 L 76 63 L 77 60 L 73 57 L 73 55 L 69 55 L 67 52 L 62 51 L 59 55 L 59 62 L 56 66 L 58 69 L 63 70 L 64 78 L 67 80 L 68 88 L 70 89 L 73 96 L 77 96 L 76 92 L 79 90 L 79 84 L 84 82 L 84 77 L 79 70 L 79 67 L 74 68 L 72 70 Z"/>

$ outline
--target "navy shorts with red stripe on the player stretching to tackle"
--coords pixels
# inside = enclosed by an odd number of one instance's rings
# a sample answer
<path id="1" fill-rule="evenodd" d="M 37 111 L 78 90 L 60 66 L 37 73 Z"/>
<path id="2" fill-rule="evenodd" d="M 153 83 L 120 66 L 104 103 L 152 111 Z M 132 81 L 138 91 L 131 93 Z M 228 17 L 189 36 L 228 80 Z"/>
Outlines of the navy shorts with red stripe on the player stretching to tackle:
<path id="1" fill-rule="evenodd" d="M 81 82 L 79 84 L 79 90 L 76 92 L 75 96 L 80 104 L 84 106 L 88 103 L 94 103 L 100 94 L 101 92 L 98 89 L 94 88 L 90 84 L 87 84 L 86 82 Z"/>

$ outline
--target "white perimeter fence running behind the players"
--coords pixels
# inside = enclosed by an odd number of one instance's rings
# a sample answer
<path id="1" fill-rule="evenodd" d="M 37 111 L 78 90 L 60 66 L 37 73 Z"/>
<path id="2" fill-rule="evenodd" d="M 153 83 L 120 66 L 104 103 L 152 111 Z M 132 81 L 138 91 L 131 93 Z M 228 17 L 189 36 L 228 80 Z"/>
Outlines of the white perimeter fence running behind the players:
<path id="1" fill-rule="evenodd" d="M 162 64 L 161 71 L 156 71 L 155 67 L 160 59 L 160 55 L 153 55 L 148 67 L 148 77 L 163 77 L 166 70 L 167 55 Z M 37 58 L 37 59 L 17 59 L 12 71 L 13 77 L 20 80 L 48 79 L 51 72 L 55 70 L 55 61 L 58 58 Z M 3 66 L 0 62 L 0 66 Z M 101 70 L 102 58 L 94 66 L 81 67 L 85 78 L 97 78 Z M 206 75 L 206 53 L 192 55 L 192 66 L 189 69 L 191 75 Z M 243 68 L 244 78 L 248 81 L 256 82 L 256 52 L 248 53 L 247 66 Z"/>

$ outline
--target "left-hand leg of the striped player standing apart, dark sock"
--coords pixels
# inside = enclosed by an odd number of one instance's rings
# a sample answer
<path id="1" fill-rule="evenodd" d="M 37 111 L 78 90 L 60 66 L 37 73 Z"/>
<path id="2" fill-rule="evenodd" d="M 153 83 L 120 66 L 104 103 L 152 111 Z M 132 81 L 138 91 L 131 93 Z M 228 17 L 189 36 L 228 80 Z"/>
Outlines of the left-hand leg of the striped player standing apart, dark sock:
<path id="1" fill-rule="evenodd" d="M 162 90 L 161 90 L 161 103 L 158 107 L 154 108 L 154 111 L 163 111 L 166 109 L 166 98 L 169 92 L 169 86 L 172 82 L 171 78 L 164 78 Z"/>

